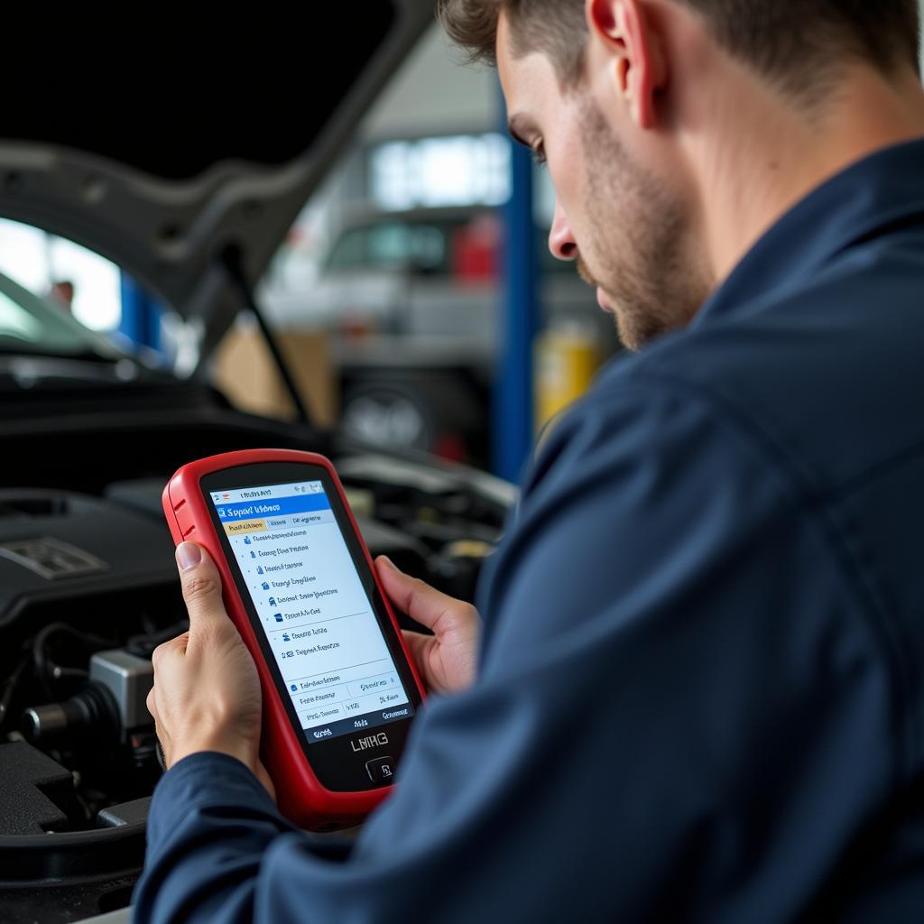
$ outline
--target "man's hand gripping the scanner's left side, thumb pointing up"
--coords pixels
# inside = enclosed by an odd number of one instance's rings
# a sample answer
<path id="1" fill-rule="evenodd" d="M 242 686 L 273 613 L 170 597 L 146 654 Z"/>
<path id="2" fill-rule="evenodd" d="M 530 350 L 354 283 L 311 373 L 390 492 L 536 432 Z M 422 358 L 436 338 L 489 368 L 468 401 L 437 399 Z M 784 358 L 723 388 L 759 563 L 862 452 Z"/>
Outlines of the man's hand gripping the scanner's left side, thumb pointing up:
<path id="1" fill-rule="evenodd" d="M 274 796 L 260 762 L 260 679 L 225 612 L 218 569 L 194 542 L 176 548 L 176 562 L 189 631 L 154 650 L 148 695 L 166 765 L 197 751 L 220 751 L 245 763 Z"/>

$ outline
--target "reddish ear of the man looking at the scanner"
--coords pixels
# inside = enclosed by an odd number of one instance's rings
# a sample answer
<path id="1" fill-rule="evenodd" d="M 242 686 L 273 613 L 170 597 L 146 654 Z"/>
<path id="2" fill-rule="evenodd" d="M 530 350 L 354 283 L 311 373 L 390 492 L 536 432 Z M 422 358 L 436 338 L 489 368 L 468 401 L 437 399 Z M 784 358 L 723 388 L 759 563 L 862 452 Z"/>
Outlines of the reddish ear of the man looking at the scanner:
<path id="1" fill-rule="evenodd" d="M 652 28 L 644 0 L 586 0 L 590 41 L 612 58 L 615 91 L 639 128 L 655 128 L 658 92 L 667 83 L 661 35 Z"/>

